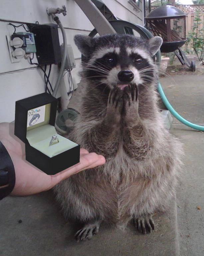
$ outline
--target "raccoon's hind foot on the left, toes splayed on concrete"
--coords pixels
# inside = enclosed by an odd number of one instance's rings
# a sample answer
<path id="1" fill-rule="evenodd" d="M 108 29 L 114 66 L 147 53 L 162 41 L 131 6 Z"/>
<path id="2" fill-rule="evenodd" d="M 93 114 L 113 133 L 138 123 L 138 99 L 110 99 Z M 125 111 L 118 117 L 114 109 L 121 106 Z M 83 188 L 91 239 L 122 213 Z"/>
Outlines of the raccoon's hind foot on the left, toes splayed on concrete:
<path id="1" fill-rule="evenodd" d="M 86 239 L 90 240 L 93 237 L 93 235 L 96 235 L 99 232 L 101 222 L 102 221 L 100 220 L 96 220 L 84 225 L 84 227 L 78 230 L 75 234 L 77 241 L 85 241 Z"/>

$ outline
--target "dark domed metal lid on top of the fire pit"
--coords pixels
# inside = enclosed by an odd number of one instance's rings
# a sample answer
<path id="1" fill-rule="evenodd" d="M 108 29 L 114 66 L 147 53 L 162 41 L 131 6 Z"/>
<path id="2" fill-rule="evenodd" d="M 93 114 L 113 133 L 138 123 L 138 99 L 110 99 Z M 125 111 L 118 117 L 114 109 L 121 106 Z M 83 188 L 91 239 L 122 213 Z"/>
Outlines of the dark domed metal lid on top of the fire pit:
<path id="1" fill-rule="evenodd" d="M 185 16 L 185 13 L 172 5 L 162 5 L 152 10 L 145 19 L 171 18 Z"/>

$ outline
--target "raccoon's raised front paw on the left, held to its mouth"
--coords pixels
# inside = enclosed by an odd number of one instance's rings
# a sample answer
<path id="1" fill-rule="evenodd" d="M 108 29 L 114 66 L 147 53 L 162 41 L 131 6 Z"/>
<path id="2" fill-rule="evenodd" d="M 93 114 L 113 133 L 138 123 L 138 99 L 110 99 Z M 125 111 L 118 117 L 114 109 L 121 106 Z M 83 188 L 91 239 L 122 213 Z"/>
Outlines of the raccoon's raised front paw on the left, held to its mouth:
<path id="1" fill-rule="evenodd" d="M 117 87 L 110 90 L 105 116 L 105 120 L 108 121 L 108 123 L 118 123 L 120 121 L 122 103 L 122 91 Z"/>

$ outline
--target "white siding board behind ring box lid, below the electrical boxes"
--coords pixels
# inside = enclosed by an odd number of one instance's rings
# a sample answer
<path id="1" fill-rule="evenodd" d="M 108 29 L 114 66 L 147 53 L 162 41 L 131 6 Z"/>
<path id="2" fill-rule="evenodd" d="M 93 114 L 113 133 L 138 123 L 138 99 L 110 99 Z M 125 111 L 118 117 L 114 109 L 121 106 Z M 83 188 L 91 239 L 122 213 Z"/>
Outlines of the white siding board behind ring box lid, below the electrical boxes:
<path id="1" fill-rule="evenodd" d="M 76 60 L 76 68 L 72 76 L 76 83 L 80 82 L 78 72 L 81 60 Z M 52 65 L 50 82 L 55 85 L 58 77 L 58 67 Z M 68 88 L 68 79 L 65 75 L 65 84 Z M 0 75 L 0 123 L 11 122 L 15 119 L 15 102 L 39 93 L 45 92 L 43 72 L 39 69 L 28 69 L 13 74 Z"/>

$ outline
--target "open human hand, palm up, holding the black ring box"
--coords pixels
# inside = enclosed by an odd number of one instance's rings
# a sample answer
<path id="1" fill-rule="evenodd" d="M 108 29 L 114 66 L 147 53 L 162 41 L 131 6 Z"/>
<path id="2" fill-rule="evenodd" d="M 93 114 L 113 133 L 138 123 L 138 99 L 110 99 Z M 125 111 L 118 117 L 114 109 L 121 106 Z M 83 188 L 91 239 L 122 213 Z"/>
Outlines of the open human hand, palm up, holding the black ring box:
<path id="1" fill-rule="evenodd" d="M 32 195 L 53 188 L 60 181 L 82 170 L 105 163 L 105 158 L 80 149 L 80 163 L 55 175 L 47 175 L 25 160 L 25 144 L 14 135 L 14 123 L 0 123 L 0 141 L 7 149 L 15 168 L 16 183 L 12 195 Z"/>

